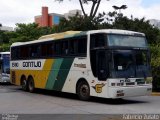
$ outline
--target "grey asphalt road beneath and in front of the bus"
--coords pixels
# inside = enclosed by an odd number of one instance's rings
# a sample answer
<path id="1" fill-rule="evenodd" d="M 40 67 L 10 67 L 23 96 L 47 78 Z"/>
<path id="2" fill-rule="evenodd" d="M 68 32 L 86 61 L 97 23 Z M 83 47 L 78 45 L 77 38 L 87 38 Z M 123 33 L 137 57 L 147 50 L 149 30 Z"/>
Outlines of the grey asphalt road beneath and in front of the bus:
<path id="1" fill-rule="evenodd" d="M 83 114 L 84 118 L 92 120 L 96 119 L 94 115 L 98 115 L 99 118 L 106 114 L 110 120 L 119 114 L 121 118 L 128 114 L 158 114 L 160 117 L 160 96 L 130 97 L 120 100 L 92 97 L 90 101 L 81 101 L 74 94 L 47 90 L 29 93 L 22 91 L 18 86 L 0 85 L 0 114 L 2 117 L 6 117 L 6 114 L 23 114 L 24 116 L 38 114 L 41 115 L 39 118 L 49 117 L 46 114 L 61 114 L 61 117 L 69 119 Z M 85 114 L 88 116 L 86 117 Z M 60 119 L 60 116 L 58 115 L 57 118 Z"/>

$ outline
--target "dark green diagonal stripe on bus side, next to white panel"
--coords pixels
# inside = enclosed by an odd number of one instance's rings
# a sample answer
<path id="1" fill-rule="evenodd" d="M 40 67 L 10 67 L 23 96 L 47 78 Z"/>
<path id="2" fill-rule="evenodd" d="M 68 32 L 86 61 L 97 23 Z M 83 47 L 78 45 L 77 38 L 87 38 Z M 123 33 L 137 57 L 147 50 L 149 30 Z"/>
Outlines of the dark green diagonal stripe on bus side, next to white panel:
<path id="1" fill-rule="evenodd" d="M 73 60 L 74 58 L 65 58 L 63 60 L 63 63 L 60 67 L 60 70 L 57 76 L 57 80 L 55 81 L 55 84 L 53 87 L 54 90 L 57 90 L 57 91 L 62 90 L 64 83 L 66 81 L 66 78 L 68 76 L 68 73 L 70 71 L 71 65 L 73 63 Z"/>

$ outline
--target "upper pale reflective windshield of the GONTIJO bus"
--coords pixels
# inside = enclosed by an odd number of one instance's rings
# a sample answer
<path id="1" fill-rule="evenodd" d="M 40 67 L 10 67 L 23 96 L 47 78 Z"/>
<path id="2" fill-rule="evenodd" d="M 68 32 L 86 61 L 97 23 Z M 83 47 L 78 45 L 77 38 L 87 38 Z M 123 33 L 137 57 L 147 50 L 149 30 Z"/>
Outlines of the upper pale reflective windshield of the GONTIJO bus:
<path id="1" fill-rule="evenodd" d="M 109 34 L 108 46 L 147 47 L 146 38 L 143 36 L 130 36 Z"/>

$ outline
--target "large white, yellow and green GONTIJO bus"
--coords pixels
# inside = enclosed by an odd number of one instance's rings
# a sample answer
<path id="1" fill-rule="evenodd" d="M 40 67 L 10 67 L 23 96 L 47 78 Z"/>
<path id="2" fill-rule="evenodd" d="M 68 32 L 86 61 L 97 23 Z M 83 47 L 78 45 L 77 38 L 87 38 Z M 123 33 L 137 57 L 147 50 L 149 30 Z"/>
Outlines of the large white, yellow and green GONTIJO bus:
<path id="1" fill-rule="evenodd" d="M 67 31 L 11 45 L 11 81 L 35 88 L 124 98 L 152 91 L 150 50 L 145 34 L 102 29 Z"/>

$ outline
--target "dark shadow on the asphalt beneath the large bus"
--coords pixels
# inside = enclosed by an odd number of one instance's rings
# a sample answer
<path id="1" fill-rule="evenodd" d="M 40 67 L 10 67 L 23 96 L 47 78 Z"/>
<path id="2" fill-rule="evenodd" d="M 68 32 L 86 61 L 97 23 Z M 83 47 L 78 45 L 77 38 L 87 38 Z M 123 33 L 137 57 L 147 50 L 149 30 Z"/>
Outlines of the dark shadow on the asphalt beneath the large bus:
<path id="1" fill-rule="evenodd" d="M 14 91 L 14 92 L 25 92 L 21 89 L 19 86 L 14 86 L 11 84 L 3 84 L 0 85 L 2 89 L 8 89 L 8 91 Z M 33 94 L 41 94 L 46 96 L 53 96 L 53 97 L 59 97 L 59 98 L 65 98 L 65 99 L 71 99 L 71 100 L 79 100 L 78 96 L 76 94 L 71 93 L 64 93 L 59 91 L 53 91 L 53 90 L 43 90 L 43 89 L 36 89 L 35 93 Z M 97 102 L 102 104 L 111 104 L 111 105 L 123 105 L 123 104 L 141 104 L 141 103 L 148 103 L 145 100 L 135 100 L 133 97 L 130 99 L 122 98 L 122 99 L 106 99 L 106 98 L 98 98 L 98 97 L 91 97 L 88 102 Z"/>

